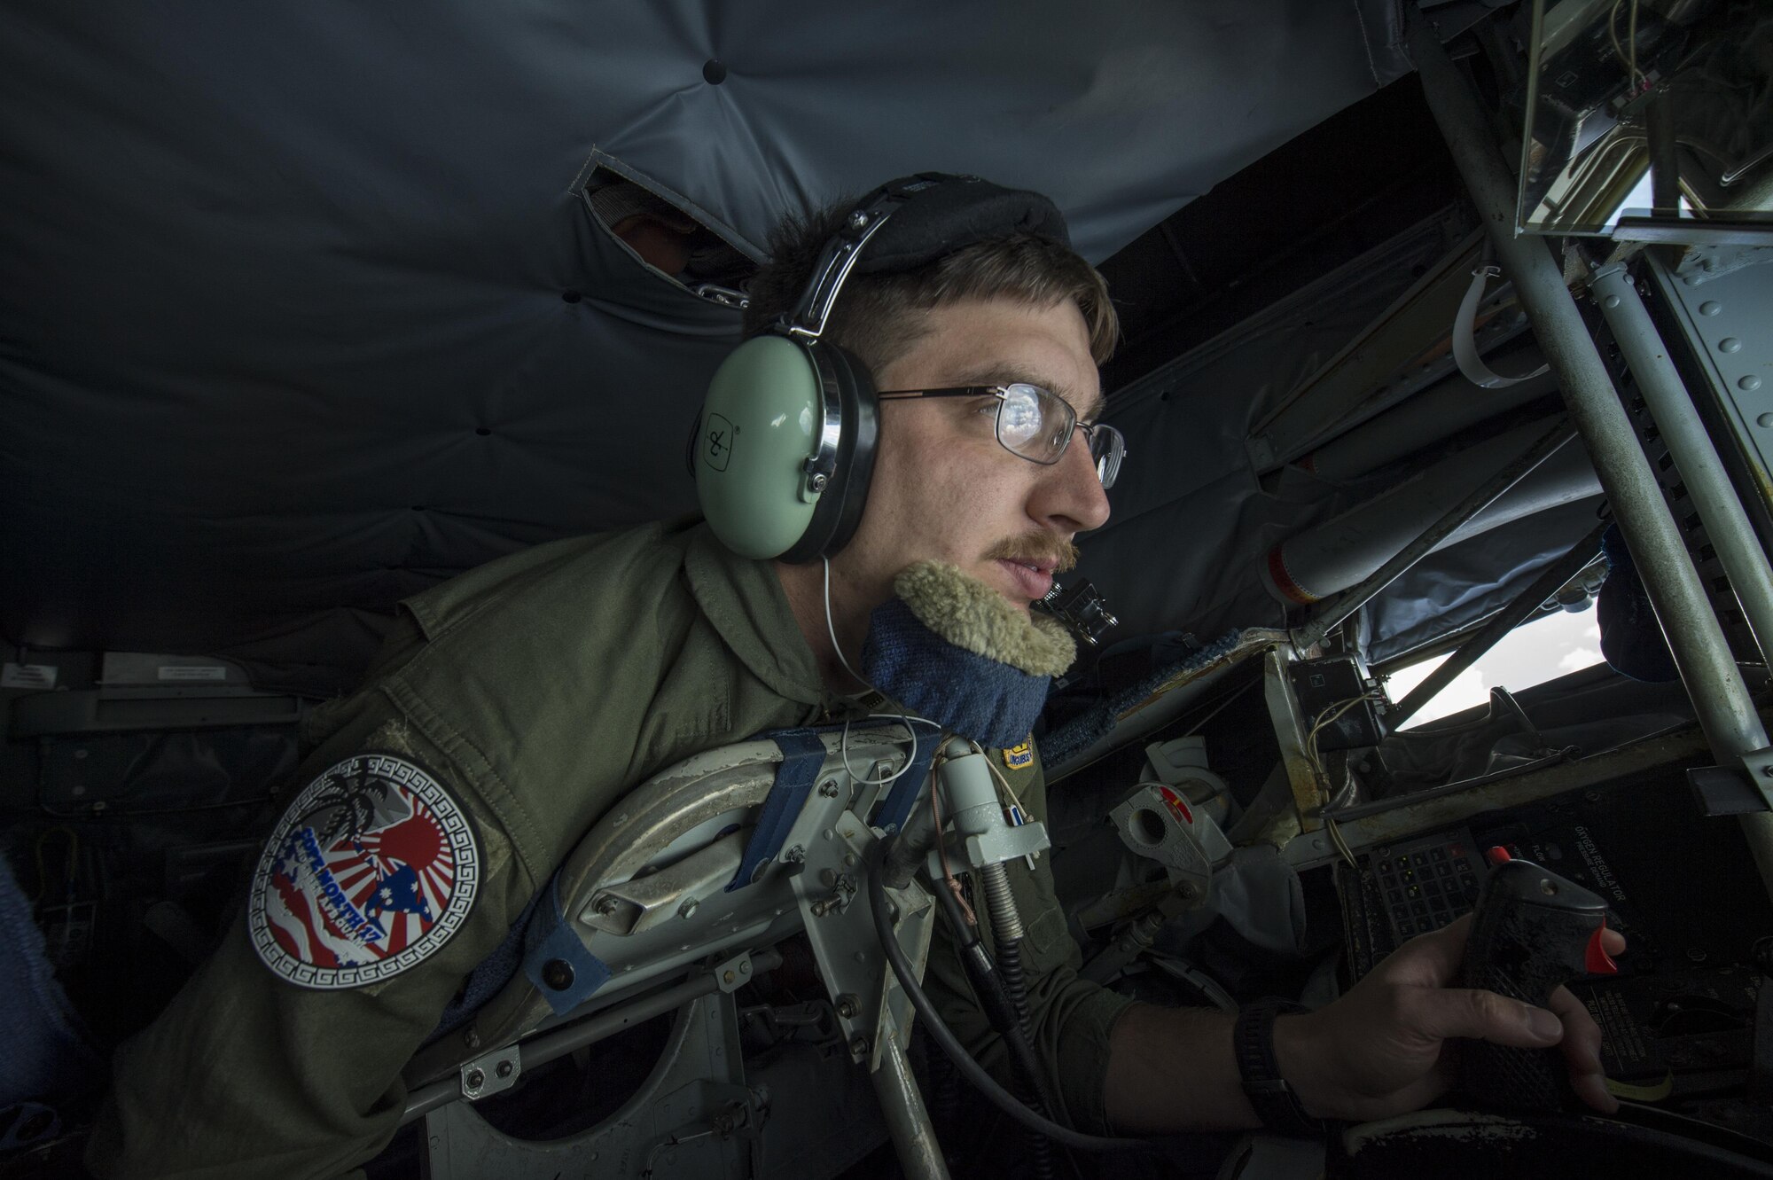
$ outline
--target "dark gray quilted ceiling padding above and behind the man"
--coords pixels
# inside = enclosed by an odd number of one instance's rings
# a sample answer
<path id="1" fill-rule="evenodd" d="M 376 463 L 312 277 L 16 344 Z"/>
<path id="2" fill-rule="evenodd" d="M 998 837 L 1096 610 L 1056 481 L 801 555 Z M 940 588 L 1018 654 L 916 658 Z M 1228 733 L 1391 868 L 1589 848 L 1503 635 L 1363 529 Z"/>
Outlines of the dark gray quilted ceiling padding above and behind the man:
<path id="1" fill-rule="evenodd" d="M 337 687 L 401 595 L 691 507 L 736 314 L 590 218 L 594 152 L 752 253 L 956 170 L 1101 259 L 1374 87 L 1298 0 L 11 0 L 0 634 Z"/>

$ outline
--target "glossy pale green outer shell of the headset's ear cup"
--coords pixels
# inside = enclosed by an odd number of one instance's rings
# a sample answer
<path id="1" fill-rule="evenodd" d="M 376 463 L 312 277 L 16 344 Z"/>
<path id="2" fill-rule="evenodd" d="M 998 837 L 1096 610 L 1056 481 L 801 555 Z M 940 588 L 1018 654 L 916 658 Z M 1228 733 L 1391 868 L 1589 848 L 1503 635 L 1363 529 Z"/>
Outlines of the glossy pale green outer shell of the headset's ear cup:
<path id="1" fill-rule="evenodd" d="M 773 558 L 801 539 L 819 505 L 807 461 L 823 427 L 819 379 L 800 344 L 755 337 L 720 365 L 695 439 L 695 487 L 729 549 Z"/>

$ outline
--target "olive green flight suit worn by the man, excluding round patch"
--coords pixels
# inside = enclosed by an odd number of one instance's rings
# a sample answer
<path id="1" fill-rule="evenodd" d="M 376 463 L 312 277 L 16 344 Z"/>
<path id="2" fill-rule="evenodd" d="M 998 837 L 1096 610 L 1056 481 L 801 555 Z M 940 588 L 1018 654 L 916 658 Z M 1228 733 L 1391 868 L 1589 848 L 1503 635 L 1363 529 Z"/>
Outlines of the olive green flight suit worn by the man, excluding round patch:
<path id="1" fill-rule="evenodd" d="M 706 524 L 539 546 L 402 608 L 363 686 L 312 714 L 316 744 L 293 787 L 365 753 L 429 774 L 473 831 L 472 907 L 415 966 L 335 990 L 275 974 L 236 920 L 117 1051 L 87 1150 L 99 1176 L 301 1180 L 376 1155 L 399 1125 L 401 1068 L 615 799 L 702 749 L 844 709 L 771 563 L 734 556 Z M 1044 817 L 1039 767 L 1009 774 Z M 1035 1042 L 1069 1118 L 1103 1130 L 1108 1029 L 1126 1001 L 1076 978 L 1078 950 L 1037 865 L 1011 870 Z M 936 943 L 933 998 L 1005 1074 L 952 946 Z"/>

